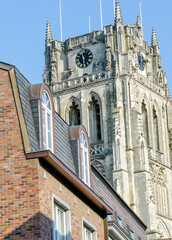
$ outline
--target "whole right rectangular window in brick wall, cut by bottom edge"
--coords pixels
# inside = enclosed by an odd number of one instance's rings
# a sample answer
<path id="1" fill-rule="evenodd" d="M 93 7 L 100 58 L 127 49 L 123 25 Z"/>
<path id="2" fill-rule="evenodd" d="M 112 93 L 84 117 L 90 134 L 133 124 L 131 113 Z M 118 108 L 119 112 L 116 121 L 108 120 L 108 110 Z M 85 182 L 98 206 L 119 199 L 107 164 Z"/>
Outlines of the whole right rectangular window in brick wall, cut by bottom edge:
<path id="1" fill-rule="evenodd" d="M 82 218 L 83 237 L 82 240 L 97 240 L 96 228 L 86 219 Z"/>

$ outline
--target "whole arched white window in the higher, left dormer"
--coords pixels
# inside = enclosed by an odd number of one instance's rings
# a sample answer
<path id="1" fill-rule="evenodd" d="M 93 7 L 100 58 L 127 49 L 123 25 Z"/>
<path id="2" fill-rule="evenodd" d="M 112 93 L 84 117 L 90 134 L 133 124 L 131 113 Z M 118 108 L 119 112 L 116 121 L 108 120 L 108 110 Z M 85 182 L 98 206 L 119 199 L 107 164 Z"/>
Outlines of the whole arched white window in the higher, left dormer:
<path id="1" fill-rule="evenodd" d="M 42 94 L 42 127 L 43 127 L 43 149 L 53 151 L 52 134 L 52 108 L 50 97 L 46 91 Z"/>

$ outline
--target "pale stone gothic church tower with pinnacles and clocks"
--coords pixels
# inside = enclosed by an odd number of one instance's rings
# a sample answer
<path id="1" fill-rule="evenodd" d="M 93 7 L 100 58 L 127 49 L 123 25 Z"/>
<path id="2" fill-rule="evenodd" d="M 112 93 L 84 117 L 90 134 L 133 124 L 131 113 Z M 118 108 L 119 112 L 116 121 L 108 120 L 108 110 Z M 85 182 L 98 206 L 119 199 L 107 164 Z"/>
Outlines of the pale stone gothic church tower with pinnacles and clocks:
<path id="1" fill-rule="evenodd" d="M 89 134 L 92 164 L 148 226 L 172 238 L 172 101 L 155 29 L 143 40 L 139 17 L 65 42 L 47 22 L 44 81 L 56 111 Z"/>

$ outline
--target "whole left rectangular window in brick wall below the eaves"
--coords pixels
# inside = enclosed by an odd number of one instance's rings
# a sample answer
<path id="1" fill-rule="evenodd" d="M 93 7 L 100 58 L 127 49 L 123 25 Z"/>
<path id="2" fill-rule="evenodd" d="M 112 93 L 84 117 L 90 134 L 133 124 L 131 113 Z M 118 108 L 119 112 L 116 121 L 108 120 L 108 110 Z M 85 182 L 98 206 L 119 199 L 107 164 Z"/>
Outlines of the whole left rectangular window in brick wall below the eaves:
<path id="1" fill-rule="evenodd" d="M 53 194 L 53 240 L 71 240 L 69 209 Z"/>

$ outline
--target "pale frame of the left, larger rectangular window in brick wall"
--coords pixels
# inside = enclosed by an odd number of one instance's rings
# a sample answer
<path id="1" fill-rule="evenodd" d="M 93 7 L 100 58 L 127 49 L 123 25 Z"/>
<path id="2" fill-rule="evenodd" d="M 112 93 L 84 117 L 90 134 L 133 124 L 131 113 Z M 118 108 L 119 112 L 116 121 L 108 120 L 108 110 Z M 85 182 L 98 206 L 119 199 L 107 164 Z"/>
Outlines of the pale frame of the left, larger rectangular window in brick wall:
<path id="1" fill-rule="evenodd" d="M 56 206 L 56 207 L 55 207 Z M 71 215 L 70 207 L 57 197 L 54 193 L 52 194 L 52 219 L 53 219 L 53 240 L 60 240 L 60 238 L 55 234 L 57 226 L 55 226 L 55 210 L 58 208 L 63 211 L 64 214 L 64 228 L 65 228 L 65 240 L 72 240 L 71 237 Z"/>

